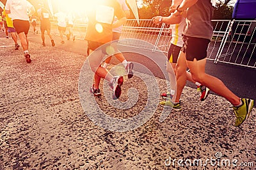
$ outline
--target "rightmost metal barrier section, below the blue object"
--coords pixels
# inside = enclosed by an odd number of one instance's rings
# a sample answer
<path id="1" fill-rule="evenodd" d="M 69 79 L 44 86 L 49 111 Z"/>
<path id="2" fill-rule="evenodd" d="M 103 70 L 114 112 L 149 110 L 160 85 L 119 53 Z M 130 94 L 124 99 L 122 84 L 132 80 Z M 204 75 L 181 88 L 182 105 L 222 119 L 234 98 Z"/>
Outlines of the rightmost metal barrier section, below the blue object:
<path id="1" fill-rule="evenodd" d="M 228 39 L 216 56 L 216 63 L 256 68 L 256 20 L 232 20 Z"/>

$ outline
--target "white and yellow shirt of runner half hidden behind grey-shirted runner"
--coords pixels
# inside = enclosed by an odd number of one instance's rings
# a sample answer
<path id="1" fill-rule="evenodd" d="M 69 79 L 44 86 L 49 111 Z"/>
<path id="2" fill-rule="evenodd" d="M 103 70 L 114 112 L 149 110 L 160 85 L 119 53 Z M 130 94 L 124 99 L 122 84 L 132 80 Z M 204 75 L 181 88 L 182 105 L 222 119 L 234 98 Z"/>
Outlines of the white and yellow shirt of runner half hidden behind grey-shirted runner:
<path id="1" fill-rule="evenodd" d="M 172 44 L 182 47 L 184 43 L 182 40 L 182 32 L 185 26 L 186 20 L 183 17 L 179 24 L 170 25 L 170 29 L 172 29 Z"/>

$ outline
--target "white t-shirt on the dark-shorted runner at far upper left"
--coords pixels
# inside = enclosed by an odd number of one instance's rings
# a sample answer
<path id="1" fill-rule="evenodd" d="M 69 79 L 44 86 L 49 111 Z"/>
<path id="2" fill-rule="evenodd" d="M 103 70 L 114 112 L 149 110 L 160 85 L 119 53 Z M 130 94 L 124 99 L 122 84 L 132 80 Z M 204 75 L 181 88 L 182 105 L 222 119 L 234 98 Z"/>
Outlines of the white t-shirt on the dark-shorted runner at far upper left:
<path id="1" fill-rule="evenodd" d="M 10 10 L 12 20 L 29 20 L 28 11 L 33 8 L 33 5 L 26 0 L 7 0 L 5 10 Z"/>

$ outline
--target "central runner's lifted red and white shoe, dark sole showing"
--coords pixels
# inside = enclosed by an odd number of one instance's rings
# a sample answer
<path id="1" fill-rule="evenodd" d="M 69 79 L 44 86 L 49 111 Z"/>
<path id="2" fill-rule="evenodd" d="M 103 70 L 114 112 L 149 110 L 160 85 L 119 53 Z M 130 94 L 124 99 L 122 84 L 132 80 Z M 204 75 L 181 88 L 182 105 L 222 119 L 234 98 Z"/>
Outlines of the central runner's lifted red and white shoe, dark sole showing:
<path id="1" fill-rule="evenodd" d="M 109 84 L 110 88 L 113 89 L 113 100 L 116 100 L 120 97 L 122 93 L 121 86 L 123 85 L 123 82 L 123 76 L 115 76 L 113 77 L 113 81 Z"/>

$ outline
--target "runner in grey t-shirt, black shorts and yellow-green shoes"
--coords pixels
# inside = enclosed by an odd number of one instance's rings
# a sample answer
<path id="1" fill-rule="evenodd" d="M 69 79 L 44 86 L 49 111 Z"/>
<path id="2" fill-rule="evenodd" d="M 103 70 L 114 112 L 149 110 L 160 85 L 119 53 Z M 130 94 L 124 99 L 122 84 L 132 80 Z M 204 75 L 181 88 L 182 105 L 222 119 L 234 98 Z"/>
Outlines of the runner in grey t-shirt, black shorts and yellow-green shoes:
<path id="1" fill-rule="evenodd" d="M 176 17 L 186 13 L 186 27 L 183 31 L 184 45 L 180 50 L 176 67 L 177 96 L 173 98 L 172 104 L 173 109 L 181 107 L 180 95 L 186 84 L 188 67 L 195 81 L 204 84 L 233 105 L 236 115 L 235 126 L 238 127 L 250 116 L 254 100 L 237 97 L 220 79 L 205 73 L 207 47 L 213 33 L 211 17 L 214 5 L 214 0 L 183 0 L 173 13 Z"/>

